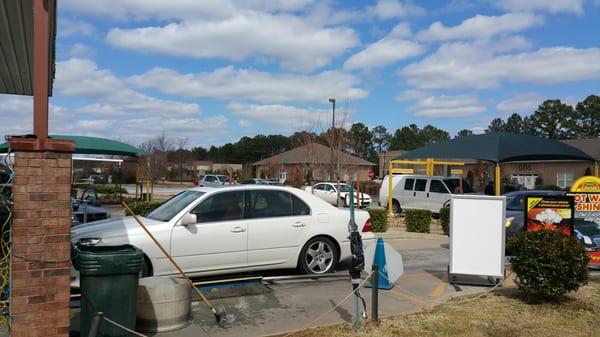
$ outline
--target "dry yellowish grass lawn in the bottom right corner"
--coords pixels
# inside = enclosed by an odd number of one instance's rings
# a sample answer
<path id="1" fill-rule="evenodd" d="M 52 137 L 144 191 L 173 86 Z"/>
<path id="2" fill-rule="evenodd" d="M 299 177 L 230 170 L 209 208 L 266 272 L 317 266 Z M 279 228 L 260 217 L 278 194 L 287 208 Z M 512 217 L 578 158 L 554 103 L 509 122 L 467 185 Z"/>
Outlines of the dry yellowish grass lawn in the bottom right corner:
<path id="1" fill-rule="evenodd" d="M 294 337 L 350 336 L 600 336 L 600 280 L 558 303 L 527 304 L 515 288 L 455 298 L 422 313 L 391 317 L 378 326 L 350 324 L 299 331 Z"/>

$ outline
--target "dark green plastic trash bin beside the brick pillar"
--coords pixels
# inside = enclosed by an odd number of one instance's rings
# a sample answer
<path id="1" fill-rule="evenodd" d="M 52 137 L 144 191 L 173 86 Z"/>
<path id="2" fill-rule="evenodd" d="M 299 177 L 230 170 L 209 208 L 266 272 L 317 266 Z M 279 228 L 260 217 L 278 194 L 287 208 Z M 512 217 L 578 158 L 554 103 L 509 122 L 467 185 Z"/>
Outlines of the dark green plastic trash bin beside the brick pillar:
<path id="1" fill-rule="evenodd" d="M 144 253 L 132 245 L 76 246 L 73 266 L 79 271 L 81 289 L 81 336 L 87 337 L 98 312 L 135 330 L 137 288 Z M 98 337 L 131 334 L 106 321 Z"/>

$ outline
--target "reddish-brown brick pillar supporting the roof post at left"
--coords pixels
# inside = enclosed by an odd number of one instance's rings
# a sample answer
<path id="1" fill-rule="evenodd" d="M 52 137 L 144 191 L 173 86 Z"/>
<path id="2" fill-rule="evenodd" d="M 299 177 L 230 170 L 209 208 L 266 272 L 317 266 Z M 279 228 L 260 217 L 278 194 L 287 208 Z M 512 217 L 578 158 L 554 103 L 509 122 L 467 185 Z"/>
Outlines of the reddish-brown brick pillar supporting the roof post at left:
<path id="1" fill-rule="evenodd" d="M 11 336 L 69 335 L 71 154 L 15 152 Z"/>

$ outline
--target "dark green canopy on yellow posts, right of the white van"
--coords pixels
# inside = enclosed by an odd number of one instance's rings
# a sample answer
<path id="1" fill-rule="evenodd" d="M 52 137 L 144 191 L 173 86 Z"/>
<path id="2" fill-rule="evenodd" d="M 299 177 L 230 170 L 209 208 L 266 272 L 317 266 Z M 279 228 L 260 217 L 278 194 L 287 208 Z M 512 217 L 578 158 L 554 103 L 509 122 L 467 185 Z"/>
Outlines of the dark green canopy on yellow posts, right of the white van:
<path id="1" fill-rule="evenodd" d="M 590 160 L 583 151 L 561 141 L 531 135 L 488 133 L 433 143 L 396 159 L 479 159 L 494 163 L 530 160 Z"/>

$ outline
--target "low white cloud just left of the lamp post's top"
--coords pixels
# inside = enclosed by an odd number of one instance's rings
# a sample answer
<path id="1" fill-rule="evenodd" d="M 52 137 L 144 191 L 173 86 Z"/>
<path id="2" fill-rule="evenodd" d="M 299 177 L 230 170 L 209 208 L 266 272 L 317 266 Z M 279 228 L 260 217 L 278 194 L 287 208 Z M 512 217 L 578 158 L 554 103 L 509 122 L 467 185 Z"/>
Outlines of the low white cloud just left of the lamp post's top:
<path id="1" fill-rule="evenodd" d="M 236 116 L 275 125 L 286 131 L 319 126 L 330 118 L 329 111 L 279 104 L 252 105 L 234 102 L 228 104 L 227 109 Z"/>

